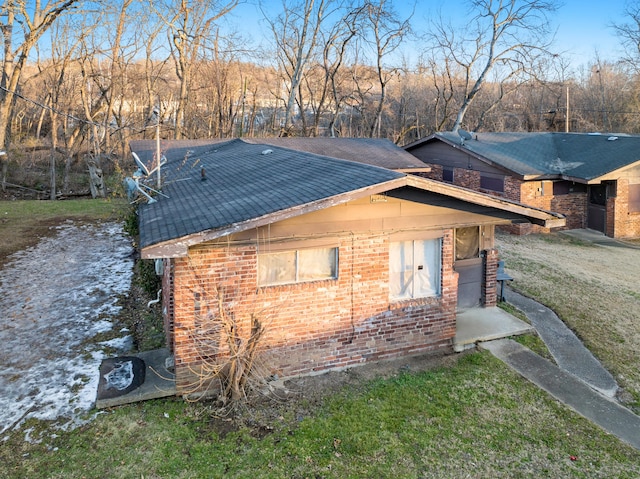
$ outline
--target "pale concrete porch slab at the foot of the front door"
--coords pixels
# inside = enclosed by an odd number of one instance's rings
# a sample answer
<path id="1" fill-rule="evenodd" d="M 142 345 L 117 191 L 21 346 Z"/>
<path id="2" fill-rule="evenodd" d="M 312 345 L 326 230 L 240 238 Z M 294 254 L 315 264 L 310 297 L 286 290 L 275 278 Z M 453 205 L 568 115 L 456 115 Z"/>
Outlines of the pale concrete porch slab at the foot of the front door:
<path id="1" fill-rule="evenodd" d="M 497 306 L 472 308 L 458 313 L 453 349 L 461 352 L 475 347 L 480 341 L 491 341 L 531 332 L 535 332 L 533 326 Z"/>

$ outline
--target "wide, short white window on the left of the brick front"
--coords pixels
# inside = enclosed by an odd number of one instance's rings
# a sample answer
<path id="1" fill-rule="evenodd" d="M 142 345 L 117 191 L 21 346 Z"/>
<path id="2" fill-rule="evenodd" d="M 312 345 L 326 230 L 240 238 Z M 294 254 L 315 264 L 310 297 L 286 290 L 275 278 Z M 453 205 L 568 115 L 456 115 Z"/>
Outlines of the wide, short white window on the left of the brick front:
<path id="1" fill-rule="evenodd" d="M 306 283 L 338 277 L 338 248 L 258 254 L 258 286 Z"/>

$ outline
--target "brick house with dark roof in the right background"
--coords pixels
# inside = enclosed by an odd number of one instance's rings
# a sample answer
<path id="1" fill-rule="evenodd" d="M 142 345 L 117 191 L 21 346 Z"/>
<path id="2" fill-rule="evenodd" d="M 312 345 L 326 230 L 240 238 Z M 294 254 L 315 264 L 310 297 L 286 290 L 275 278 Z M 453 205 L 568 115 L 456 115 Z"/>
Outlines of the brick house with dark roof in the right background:
<path id="1" fill-rule="evenodd" d="M 430 178 L 562 213 L 569 229 L 640 236 L 640 136 L 440 132 L 405 149 Z"/>

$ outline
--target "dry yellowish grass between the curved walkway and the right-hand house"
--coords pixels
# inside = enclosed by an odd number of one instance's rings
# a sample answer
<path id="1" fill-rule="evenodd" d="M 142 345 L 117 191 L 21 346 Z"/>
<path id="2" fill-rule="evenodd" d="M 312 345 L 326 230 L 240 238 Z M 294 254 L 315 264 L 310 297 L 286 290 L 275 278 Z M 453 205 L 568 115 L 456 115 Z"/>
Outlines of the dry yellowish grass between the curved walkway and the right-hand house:
<path id="1" fill-rule="evenodd" d="M 640 249 L 498 235 L 513 287 L 552 308 L 640 405 Z"/>

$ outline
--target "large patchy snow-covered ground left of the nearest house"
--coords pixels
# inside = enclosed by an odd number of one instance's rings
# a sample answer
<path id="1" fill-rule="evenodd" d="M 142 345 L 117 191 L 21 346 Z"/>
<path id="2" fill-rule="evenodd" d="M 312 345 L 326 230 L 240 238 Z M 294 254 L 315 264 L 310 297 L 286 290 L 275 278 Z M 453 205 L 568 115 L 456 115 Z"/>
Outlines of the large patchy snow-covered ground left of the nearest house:
<path id="1" fill-rule="evenodd" d="M 62 427 L 86 420 L 104 350 L 131 344 L 128 331 L 92 340 L 113 329 L 131 252 L 120 224 L 67 222 L 10 257 L 0 278 L 0 434 L 30 417 Z"/>

